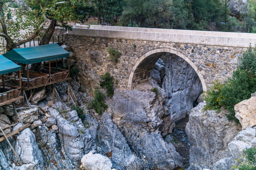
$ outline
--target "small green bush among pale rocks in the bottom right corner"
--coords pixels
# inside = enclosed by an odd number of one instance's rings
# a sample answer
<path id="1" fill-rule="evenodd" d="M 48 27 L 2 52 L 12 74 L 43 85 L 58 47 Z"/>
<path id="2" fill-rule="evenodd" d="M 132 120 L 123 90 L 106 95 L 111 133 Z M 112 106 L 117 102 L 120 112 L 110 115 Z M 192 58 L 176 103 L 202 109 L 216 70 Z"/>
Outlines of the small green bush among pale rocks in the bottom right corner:
<path id="1" fill-rule="evenodd" d="M 238 168 L 239 170 L 256 170 L 256 148 L 246 149 L 243 153 L 245 154 L 247 163 L 234 168 Z"/>

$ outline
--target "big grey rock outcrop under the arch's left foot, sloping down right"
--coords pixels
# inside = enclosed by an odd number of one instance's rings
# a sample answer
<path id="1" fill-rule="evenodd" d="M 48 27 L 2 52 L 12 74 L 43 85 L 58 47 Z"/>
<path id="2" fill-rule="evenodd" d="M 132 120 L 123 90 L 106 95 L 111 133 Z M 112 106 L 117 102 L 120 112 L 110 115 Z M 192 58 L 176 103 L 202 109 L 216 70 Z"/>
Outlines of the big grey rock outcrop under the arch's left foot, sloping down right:
<path id="1" fill-rule="evenodd" d="M 172 144 L 165 143 L 157 134 L 162 117 L 168 115 L 158 97 L 151 91 L 115 90 L 113 121 L 145 167 L 172 170 L 182 166 L 182 158 Z"/>

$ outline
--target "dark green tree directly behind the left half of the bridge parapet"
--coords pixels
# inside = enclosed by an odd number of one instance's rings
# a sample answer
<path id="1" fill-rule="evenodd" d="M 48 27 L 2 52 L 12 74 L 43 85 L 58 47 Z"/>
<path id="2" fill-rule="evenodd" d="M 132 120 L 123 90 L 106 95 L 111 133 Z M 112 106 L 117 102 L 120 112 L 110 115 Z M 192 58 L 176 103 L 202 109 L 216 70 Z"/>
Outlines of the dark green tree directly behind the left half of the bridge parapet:
<path id="1" fill-rule="evenodd" d="M 123 0 L 92 0 L 94 6 L 94 15 L 99 18 L 100 24 L 118 22 L 122 15 L 124 1 Z"/>

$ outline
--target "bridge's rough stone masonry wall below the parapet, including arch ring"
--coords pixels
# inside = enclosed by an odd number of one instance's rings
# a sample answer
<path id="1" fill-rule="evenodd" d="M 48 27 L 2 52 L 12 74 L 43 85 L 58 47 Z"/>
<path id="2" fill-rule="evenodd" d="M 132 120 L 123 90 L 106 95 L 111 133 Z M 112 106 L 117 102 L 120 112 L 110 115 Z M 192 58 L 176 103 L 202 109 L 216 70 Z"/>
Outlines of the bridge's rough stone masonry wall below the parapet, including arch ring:
<path id="1" fill-rule="evenodd" d="M 210 85 L 213 80 L 224 81 L 231 76 L 233 70 L 236 69 L 238 57 L 247 50 L 243 47 L 124 40 L 68 34 L 65 35 L 65 44 L 71 47 L 77 60 L 92 65 L 92 69 L 97 74 L 110 72 L 118 80 L 120 89 L 131 89 L 148 79 L 149 72 L 153 69 L 152 63 L 157 60 L 158 56 L 161 56 L 158 54 L 157 57 L 152 57 L 155 52 L 171 52 L 192 65 L 201 82 L 204 81 L 202 85 L 206 90 L 206 86 Z M 109 47 L 119 50 L 122 54 L 117 64 L 109 60 Z M 130 82 L 132 83 L 129 84 Z"/>

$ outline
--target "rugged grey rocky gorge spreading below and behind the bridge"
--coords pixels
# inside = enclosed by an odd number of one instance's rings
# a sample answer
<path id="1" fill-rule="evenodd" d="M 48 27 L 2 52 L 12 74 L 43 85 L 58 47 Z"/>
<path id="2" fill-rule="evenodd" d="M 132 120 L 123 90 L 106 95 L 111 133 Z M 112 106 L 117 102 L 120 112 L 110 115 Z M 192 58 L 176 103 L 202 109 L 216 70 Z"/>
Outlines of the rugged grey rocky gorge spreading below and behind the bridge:
<path id="1" fill-rule="evenodd" d="M 203 111 L 202 84 L 182 58 L 162 55 L 150 81 L 133 90 L 115 88 L 113 97 L 105 99 L 108 109 L 99 115 L 88 105 L 93 100 L 92 90 L 99 87 L 100 75 L 91 63 L 77 60 L 68 46 L 64 48 L 71 51 L 72 67 L 79 70 L 71 86 L 83 116 L 58 100 L 51 105 L 51 88 L 38 90 L 32 99 L 35 107 L 18 111 L 23 123 L 31 126 L 9 138 L 22 165 L 4 140 L 0 143 L 0 169 L 229 170 L 243 159 L 245 148 L 256 146 L 255 122 L 251 120 L 256 97 L 235 107 L 242 126 L 229 121 L 225 110 Z M 97 52 L 90 54 L 95 63 L 101 62 Z M 56 84 L 56 89 L 67 102 L 67 83 Z M 105 90 L 100 91 L 106 95 Z M 1 107 L 0 112 L 1 120 L 18 119 L 11 106 Z M 175 135 L 179 120 L 184 135 Z M 0 122 L 1 127 L 7 125 Z M 18 123 L 12 130 L 20 126 Z M 183 138 L 187 139 L 181 144 Z M 183 147 L 189 152 L 182 153 L 187 152 Z M 189 164 L 184 164 L 186 159 Z"/>

